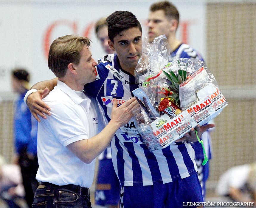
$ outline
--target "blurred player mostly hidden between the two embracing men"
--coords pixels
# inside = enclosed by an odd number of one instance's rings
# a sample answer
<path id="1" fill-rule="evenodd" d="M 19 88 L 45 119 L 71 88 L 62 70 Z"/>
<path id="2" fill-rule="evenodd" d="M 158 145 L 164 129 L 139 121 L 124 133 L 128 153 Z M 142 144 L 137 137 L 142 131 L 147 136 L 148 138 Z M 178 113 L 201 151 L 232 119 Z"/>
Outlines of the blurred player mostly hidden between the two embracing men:
<path id="1" fill-rule="evenodd" d="M 108 45 L 107 17 L 100 18 L 95 23 L 95 34 L 105 54 L 114 53 Z M 99 166 L 95 190 L 95 204 L 115 208 L 119 202 L 119 180 L 114 170 L 111 148 L 107 147 L 98 156 Z"/>

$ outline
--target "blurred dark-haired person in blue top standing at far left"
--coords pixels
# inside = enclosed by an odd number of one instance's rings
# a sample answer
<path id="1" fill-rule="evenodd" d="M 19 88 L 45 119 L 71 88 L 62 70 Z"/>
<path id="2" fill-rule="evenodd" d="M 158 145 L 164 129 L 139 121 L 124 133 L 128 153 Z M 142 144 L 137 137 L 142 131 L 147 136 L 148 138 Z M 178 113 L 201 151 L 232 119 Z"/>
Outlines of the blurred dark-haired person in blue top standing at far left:
<path id="1" fill-rule="evenodd" d="M 15 103 L 13 119 L 13 140 L 16 153 L 14 163 L 19 164 L 21 168 L 25 199 L 28 207 L 32 208 L 34 193 L 38 186 L 38 182 L 35 179 L 38 160 L 37 122 L 23 101 L 27 90 L 30 89 L 29 81 L 30 75 L 26 70 L 18 68 L 12 71 L 13 91 L 19 94 Z M 32 129 L 33 131 L 31 131 Z"/>

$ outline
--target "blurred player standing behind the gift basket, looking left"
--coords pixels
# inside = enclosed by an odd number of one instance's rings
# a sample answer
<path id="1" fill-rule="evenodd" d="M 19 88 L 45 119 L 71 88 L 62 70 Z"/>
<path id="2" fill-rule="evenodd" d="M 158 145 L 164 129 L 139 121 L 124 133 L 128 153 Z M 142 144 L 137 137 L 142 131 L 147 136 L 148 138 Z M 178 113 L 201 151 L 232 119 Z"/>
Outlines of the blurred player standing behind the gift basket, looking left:
<path id="1" fill-rule="evenodd" d="M 153 42 L 155 37 L 162 34 L 165 34 L 167 37 L 168 43 L 173 51 L 169 57 L 170 62 L 179 58 L 199 59 L 204 61 L 202 56 L 194 48 L 182 43 L 176 38 L 176 31 L 179 26 L 179 12 L 169 1 L 159 1 L 150 6 L 147 26 L 149 42 Z M 211 159 L 210 130 L 203 133 L 201 137 L 204 142 L 208 159 Z M 202 146 L 199 142 L 195 142 L 193 145 L 195 149 L 196 165 L 198 167 L 198 178 L 202 185 L 203 197 L 205 198 L 205 182 L 208 179 L 209 162 L 202 166 L 202 162 L 204 160 Z"/>

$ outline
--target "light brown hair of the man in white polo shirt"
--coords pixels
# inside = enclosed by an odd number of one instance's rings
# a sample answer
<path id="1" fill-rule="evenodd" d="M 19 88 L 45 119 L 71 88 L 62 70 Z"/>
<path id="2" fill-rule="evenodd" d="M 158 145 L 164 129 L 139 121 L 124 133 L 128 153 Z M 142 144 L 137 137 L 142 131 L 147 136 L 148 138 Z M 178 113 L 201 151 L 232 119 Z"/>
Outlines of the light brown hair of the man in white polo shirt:
<path id="1" fill-rule="evenodd" d="M 70 63 L 79 64 L 84 46 L 90 46 L 88 37 L 65 35 L 55 39 L 49 50 L 48 67 L 58 77 L 66 75 Z"/>

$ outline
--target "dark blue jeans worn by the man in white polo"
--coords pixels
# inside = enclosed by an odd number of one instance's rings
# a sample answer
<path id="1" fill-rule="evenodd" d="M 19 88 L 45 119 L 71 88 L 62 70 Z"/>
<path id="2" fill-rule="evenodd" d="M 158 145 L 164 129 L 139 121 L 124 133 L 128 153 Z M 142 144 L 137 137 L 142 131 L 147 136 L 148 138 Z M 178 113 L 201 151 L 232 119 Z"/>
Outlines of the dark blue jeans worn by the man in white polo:
<path id="1" fill-rule="evenodd" d="M 35 208 L 91 208 L 89 189 L 65 185 L 57 186 L 41 182 L 35 191 Z"/>

